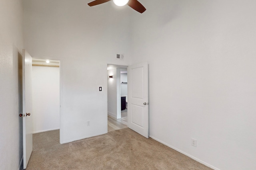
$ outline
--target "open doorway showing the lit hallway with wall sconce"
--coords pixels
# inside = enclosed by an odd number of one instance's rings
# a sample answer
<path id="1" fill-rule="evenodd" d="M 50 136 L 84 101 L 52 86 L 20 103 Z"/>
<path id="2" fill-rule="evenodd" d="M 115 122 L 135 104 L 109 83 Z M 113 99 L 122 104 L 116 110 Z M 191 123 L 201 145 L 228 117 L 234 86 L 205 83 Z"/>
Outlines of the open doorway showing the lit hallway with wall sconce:
<path id="1" fill-rule="evenodd" d="M 128 127 L 127 67 L 108 64 L 108 132 Z"/>

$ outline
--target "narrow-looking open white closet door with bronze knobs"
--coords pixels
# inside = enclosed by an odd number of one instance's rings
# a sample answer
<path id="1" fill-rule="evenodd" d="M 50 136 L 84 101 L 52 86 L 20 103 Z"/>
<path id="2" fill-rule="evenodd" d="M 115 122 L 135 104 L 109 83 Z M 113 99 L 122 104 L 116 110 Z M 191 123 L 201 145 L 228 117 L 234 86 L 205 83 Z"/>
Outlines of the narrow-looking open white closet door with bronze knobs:
<path id="1" fill-rule="evenodd" d="M 23 169 L 27 168 L 32 153 L 32 57 L 22 51 L 22 98 L 23 98 Z"/>

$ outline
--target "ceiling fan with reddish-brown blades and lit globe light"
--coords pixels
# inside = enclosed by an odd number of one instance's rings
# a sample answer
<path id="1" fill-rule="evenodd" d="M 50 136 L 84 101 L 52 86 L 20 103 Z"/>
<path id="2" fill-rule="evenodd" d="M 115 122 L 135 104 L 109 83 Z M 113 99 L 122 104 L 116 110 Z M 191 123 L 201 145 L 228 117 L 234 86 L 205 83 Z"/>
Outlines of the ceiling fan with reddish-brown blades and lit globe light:
<path id="1" fill-rule="evenodd" d="M 90 2 L 88 5 L 95 6 L 95 5 L 103 4 L 108 1 L 111 1 L 111 0 L 95 0 Z M 117 6 L 124 6 L 127 4 L 132 9 L 140 13 L 143 13 L 144 11 L 146 11 L 146 8 L 142 4 L 140 4 L 140 2 L 138 2 L 137 0 L 113 0 L 113 1 Z"/>

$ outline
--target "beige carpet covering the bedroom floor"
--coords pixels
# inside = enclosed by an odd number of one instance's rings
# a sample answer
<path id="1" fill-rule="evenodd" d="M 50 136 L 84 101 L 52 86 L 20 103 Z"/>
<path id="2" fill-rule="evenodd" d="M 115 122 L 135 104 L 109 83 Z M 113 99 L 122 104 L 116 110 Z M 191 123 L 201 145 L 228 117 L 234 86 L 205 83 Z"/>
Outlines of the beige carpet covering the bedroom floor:
<path id="1" fill-rule="evenodd" d="M 131 129 L 59 144 L 59 131 L 33 135 L 27 170 L 210 170 Z"/>

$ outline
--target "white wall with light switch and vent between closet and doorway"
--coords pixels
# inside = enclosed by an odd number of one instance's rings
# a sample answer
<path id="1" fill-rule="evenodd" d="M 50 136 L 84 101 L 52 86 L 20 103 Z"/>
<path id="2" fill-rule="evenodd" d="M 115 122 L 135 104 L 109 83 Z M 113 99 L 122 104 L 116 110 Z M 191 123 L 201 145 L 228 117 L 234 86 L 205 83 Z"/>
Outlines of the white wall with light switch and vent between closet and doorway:
<path id="1" fill-rule="evenodd" d="M 24 46 L 32 57 L 61 63 L 62 143 L 107 133 L 107 64 L 128 65 L 130 58 L 132 10 L 87 3 L 24 0 Z"/>

